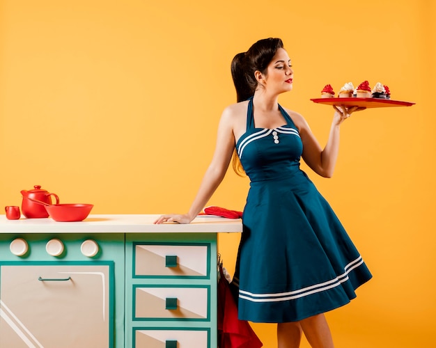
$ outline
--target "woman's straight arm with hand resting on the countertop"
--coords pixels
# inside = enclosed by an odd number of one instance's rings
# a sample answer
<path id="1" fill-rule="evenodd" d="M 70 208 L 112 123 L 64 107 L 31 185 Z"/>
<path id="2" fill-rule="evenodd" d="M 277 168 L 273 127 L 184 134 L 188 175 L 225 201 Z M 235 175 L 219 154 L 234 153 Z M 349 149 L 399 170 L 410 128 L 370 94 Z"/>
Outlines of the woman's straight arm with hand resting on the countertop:
<path id="1" fill-rule="evenodd" d="M 215 192 L 226 175 L 228 164 L 231 161 L 233 149 L 235 148 L 235 137 L 233 136 L 233 118 L 231 112 L 224 110 L 219 121 L 217 132 L 217 144 L 212 161 L 203 176 L 198 193 L 187 214 L 162 215 L 155 223 L 178 222 L 190 223 L 203 209 L 212 194 Z"/>

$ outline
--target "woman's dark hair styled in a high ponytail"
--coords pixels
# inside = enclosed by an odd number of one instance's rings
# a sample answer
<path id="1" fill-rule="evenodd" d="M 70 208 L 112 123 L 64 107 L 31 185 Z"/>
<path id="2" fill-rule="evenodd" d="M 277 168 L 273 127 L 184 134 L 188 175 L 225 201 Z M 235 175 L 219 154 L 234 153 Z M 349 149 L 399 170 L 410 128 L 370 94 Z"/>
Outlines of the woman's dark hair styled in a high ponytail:
<path id="1" fill-rule="evenodd" d="M 238 102 L 254 95 L 258 85 L 254 72 L 259 70 L 265 74 L 268 64 L 279 48 L 283 48 L 281 39 L 267 38 L 258 40 L 247 52 L 238 53 L 233 58 L 231 72 Z"/>

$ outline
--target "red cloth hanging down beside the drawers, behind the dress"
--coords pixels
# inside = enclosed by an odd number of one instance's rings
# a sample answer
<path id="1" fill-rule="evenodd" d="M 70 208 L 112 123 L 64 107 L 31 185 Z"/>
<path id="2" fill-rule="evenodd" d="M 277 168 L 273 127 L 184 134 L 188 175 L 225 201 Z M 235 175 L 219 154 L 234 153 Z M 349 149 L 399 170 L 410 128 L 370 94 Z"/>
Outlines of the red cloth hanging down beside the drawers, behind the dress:
<path id="1" fill-rule="evenodd" d="M 218 347 L 260 348 L 263 346 L 249 322 L 238 319 L 238 307 L 230 286 L 219 267 L 218 282 Z"/>

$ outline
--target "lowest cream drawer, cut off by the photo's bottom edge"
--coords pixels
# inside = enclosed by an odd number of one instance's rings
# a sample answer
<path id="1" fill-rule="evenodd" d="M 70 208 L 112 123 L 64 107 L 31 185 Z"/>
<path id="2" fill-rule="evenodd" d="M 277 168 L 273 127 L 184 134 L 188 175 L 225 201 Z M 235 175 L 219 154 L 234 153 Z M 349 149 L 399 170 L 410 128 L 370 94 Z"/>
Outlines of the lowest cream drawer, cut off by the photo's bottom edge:
<path id="1" fill-rule="evenodd" d="M 208 348 L 209 329 L 134 329 L 135 348 Z"/>

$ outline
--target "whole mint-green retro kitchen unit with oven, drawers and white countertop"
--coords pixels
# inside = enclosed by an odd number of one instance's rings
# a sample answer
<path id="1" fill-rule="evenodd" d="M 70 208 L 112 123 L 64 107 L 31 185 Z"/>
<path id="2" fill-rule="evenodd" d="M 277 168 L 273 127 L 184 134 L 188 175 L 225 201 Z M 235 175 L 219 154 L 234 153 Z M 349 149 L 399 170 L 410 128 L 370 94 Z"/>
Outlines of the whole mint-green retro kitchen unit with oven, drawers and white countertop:
<path id="1" fill-rule="evenodd" d="M 217 234 L 240 219 L 0 216 L 0 347 L 217 348 Z"/>

